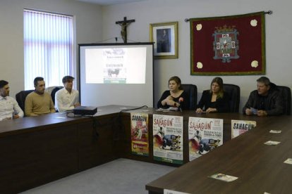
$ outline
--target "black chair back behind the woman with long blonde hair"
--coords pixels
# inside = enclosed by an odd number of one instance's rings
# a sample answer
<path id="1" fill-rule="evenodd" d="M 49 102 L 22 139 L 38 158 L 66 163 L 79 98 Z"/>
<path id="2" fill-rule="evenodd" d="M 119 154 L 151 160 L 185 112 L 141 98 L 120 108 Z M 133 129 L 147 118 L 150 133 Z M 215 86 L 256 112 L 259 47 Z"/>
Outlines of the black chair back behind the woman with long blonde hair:
<path id="1" fill-rule="evenodd" d="M 239 101 L 241 98 L 241 88 L 234 84 L 223 84 L 223 89 L 229 96 L 230 112 L 238 112 Z"/>

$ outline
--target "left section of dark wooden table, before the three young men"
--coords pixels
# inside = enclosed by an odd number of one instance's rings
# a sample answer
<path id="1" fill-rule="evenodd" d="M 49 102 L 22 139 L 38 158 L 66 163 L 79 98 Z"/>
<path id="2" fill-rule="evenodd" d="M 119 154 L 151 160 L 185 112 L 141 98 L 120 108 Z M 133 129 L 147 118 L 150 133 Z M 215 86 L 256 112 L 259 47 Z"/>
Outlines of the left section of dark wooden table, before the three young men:
<path id="1" fill-rule="evenodd" d="M 96 117 L 53 113 L 0 122 L 0 193 L 18 193 L 120 157 L 120 106 Z"/>

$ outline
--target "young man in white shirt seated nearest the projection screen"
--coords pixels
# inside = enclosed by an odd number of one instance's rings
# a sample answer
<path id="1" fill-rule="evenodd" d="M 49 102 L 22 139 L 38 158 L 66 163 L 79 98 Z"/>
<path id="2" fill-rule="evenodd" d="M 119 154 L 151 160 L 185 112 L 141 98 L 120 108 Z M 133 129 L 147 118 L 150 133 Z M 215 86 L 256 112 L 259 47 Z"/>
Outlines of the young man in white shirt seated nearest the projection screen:
<path id="1" fill-rule="evenodd" d="M 71 76 L 63 77 L 64 88 L 55 94 L 56 108 L 59 112 L 73 110 L 75 107 L 80 106 L 79 92 L 73 89 L 73 80 L 74 77 Z"/>

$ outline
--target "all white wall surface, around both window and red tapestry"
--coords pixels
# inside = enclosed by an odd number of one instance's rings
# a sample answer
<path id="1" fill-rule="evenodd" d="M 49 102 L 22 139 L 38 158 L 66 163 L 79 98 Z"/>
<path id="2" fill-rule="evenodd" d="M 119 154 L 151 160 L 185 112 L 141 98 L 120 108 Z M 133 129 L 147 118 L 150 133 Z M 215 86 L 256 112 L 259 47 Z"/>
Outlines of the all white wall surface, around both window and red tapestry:
<path id="1" fill-rule="evenodd" d="M 11 86 L 11 96 L 24 89 L 23 73 L 23 8 L 66 13 L 75 16 L 77 44 L 114 42 L 121 37 L 121 27 L 115 22 L 135 19 L 128 26 L 128 39 L 150 41 L 150 23 L 178 21 L 178 59 L 155 60 L 154 101 L 167 89 L 167 80 L 173 75 L 182 82 L 198 87 L 199 98 L 209 88 L 214 76 L 190 75 L 190 27 L 185 18 L 238 15 L 272 10 L 266 15 L 267 74 L 272 82 L 292 88 L 291 12 L 289 0 L 148 0 L 129 4 L 100 7 L 75 0 L 1 0 L 0 1 L 0 79 Z M 118 41 L 121 42 L 121 39 Z M 75 46 L 78 48 L 78 45 Z M 75 60 L 78 62 L 78 58 Z M 77 67 L 75 65 L 75 77 Z M 241 108 L 250 91 L 255 89 L 259 76 L 222 76 L 225 83 L 241 86 Z"/>

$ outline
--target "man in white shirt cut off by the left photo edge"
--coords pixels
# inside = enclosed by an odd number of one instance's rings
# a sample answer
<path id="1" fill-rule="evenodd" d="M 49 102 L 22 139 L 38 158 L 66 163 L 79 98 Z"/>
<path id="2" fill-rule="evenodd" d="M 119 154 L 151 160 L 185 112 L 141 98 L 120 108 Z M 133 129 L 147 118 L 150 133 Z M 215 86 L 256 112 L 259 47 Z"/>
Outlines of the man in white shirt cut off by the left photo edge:
<path id="1" fill-rule="evenodd" d="M 9 96 L 8 82 L 0 81 L 0 121 L 4 119 L 18 119 L 23 117 L 23 110 L 16 100 Z"/>

